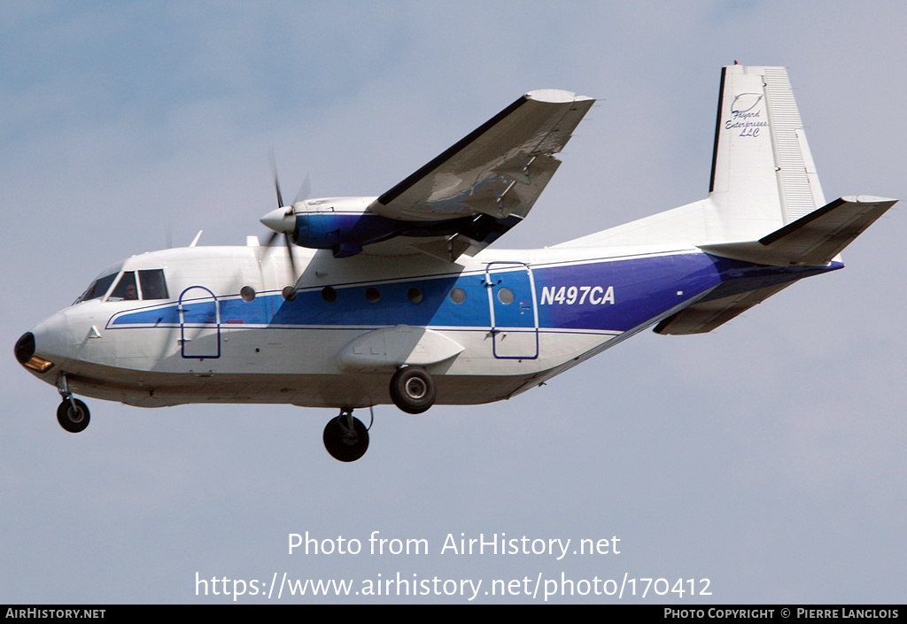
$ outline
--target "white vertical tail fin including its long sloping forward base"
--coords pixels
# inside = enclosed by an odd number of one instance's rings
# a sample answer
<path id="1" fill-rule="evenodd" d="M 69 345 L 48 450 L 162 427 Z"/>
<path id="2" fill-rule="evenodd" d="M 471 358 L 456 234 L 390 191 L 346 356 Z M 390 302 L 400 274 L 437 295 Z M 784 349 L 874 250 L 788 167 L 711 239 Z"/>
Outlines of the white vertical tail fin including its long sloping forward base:
<path id="1" fill-rule="evenodd" d="M 561 245 L 757 240 L 824 205 L 787 70 L 729 65 L 721 71 L 708 198 Z"/>

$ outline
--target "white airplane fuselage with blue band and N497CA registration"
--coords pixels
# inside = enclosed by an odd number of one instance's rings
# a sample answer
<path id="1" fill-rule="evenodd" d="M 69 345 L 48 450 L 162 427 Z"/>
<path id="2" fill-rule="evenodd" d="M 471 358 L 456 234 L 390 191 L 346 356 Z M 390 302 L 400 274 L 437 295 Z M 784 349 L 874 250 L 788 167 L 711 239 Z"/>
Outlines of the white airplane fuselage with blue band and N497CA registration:
<path id="1" fill-rule="evenodd" d="M 424 356 L 437 403 L 487 403 L 720 285 L 762 288 L 840 266 L 766 267 L 696 248 L 486 250 L 457 264 L 294 248 L 297 279 L 287 253 L 253 240 L 128 258 L 99 277 L 100 295 L 86 292 L 32 330 L 34 354 L 53 363 L 32 372 L 54 385 L 64 373 L 73 393 L 130 405 L 352 408 L 390 402 L 387 380 L 401 363 L 392 343 L 416 336 L 408 357 L 440 353 Z M 130 281 L 137 296 L 124 295 Z"/>

